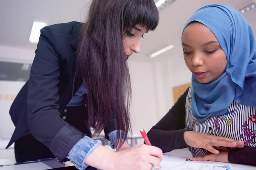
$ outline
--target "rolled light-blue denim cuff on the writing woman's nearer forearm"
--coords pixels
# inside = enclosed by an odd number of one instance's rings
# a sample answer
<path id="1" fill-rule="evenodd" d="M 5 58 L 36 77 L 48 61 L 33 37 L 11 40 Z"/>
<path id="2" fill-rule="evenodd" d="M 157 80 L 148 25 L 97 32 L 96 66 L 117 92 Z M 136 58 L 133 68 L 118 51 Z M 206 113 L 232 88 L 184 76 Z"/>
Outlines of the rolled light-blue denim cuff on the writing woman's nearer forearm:
<path id="1" fill-rule="evenodd" d="M 97 142 L 96 140 L 88 136 L 84 136 L 70 150 L 67 155 L 67 159 L 70 159 L 71 163 L 74 164 L 77 169 L 84 170 L 89 166 L 84 163 L 85 159 L 99 145 L 99 142 Z"/>

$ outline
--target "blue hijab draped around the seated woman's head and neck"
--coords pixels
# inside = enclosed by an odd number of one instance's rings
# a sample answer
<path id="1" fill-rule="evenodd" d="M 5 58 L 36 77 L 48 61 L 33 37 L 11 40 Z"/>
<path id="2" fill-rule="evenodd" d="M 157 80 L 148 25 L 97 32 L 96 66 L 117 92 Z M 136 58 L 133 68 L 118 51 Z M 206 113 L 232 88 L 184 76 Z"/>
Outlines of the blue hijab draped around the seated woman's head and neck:
<path id="1" fill-rule="evenodd" d="M 192 75 L 192 114 L 204 122 L 225 114 L 234 100 L 256 107 L 256 42 L 244 16 L 230 6 L 208 5 L 196 11 L 184 29 L 192 21 L 207 26 L 227 56 L 224 72 L 212 82 L 201 84 Z"/>

